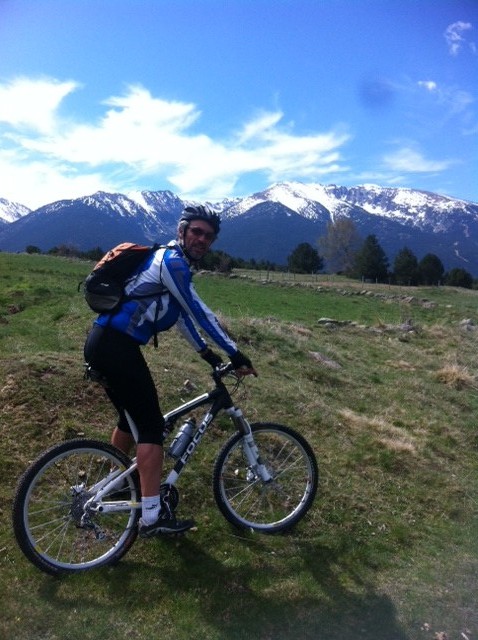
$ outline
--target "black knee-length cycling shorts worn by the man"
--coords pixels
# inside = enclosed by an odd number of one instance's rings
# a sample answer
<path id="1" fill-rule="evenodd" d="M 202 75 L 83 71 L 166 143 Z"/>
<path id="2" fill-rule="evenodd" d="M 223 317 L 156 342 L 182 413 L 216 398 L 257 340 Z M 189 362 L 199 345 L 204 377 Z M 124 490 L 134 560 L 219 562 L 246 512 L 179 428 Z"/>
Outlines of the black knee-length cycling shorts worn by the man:
<path id="1" fill-rule="evenodd" d="M 118 428 L 131 433 L 126 410 L 136 425 L 139 443 L 163 444 L 164 418 L 140 344 L 124 333 L 95 324 L 84 354 L 86 362 L 106 378 L 106 393 L 119 414 Z"/>

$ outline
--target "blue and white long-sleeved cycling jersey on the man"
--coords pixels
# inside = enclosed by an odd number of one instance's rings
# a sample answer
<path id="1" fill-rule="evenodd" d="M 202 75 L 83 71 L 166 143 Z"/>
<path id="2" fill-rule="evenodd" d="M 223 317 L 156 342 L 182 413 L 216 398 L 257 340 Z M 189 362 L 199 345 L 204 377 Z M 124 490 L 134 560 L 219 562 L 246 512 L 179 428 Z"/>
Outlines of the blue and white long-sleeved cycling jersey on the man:
<path id="1" fill-rule="evenodd" d="M 158 249 L 130 279 L 125 292 L 131 299 L 113 315 L 98 316 L 97 324 L 126 333 L 140 344 L 176 325 L 196 351 L 207 346 L 199 333 L 202 329 L 227 355 L 236 353 L 236 344 L 197 295 L 189 264 L 175 242 Z"/>

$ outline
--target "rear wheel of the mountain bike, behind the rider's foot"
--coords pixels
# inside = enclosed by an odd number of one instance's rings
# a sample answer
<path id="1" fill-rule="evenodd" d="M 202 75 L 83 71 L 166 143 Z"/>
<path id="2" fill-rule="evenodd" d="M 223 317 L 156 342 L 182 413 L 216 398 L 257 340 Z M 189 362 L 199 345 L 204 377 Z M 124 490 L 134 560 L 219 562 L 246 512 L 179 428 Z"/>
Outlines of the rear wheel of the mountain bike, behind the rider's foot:
<path id="1" fill-rule="evenodd" d="M 138 533 L 137 472 L 125 478 L 120 495 L 107 496 L 108 501 L 131 501 L 129 509 L 91 512 L 87 521 L 80 520 L 88 487 L 130 464 L 112 445 L 89 439 L 69 440 L 40 455 L 18 481 L 13 501 L 13 531 L 28 560 L 52 575 L 118 562 Z"/>

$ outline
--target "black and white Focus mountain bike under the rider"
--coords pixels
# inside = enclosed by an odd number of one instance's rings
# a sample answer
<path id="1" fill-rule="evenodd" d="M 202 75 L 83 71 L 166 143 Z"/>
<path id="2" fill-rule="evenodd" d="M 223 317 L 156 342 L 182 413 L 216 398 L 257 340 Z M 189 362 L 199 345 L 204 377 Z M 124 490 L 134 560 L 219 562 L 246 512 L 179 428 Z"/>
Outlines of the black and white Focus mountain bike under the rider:
<path id="1" fill-rule="evenodd" d="M 231 391 L 225 376 L 235 379 Z M 161 500 L 173 511 L 177 508 L 176 483 L 214 418 L 224 411 L 236 433 L 214 462 L 217 507 L 242 529 L 266 534 L 289 530 L 305 516 L 317 492 L 311 446 L 290 427 L 248 423 L 232 401 L 241 379 L 230 363 L 216 368 L 212 378 L 212 390 L 164 416 L 169 436 L 179 418 L 207 405 L 199 424 L 186 423 L 190 427 L 183 425 L 177 432 L 192 432 L 182 446 L 176 436 L 169 448 L 174 466 L 161 485 Z M 51 447 L 23 473 L 13 502 L 13 530 L 30 562 L 59 575 L 117 563 L 137 537 L 140 513 L 136 459 L 109 443 L 81 438 Z"/>

